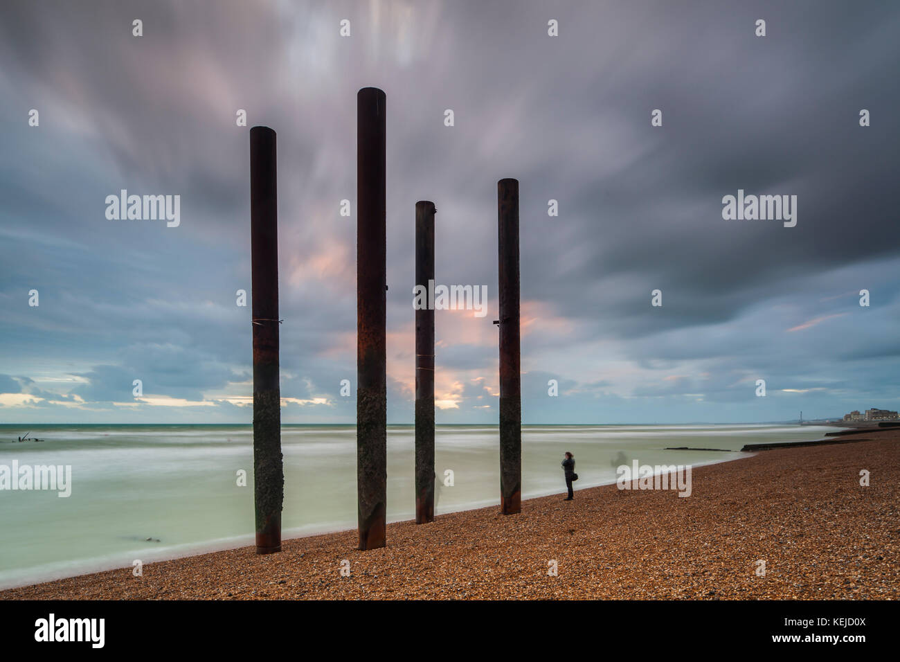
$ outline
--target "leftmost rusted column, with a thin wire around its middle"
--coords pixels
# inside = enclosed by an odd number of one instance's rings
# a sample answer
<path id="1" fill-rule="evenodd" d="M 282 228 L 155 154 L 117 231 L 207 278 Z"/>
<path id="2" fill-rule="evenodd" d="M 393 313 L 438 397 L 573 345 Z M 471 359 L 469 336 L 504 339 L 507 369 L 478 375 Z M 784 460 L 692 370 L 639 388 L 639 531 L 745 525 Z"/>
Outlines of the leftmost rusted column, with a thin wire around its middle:
<path id="1" fill-rule="evenodd" d="M 250 129 L 253 272 L 253 478 L 257 554 L 281 551 L 284 467 L 278 385 L 278 195 L 275 131 Z"/>

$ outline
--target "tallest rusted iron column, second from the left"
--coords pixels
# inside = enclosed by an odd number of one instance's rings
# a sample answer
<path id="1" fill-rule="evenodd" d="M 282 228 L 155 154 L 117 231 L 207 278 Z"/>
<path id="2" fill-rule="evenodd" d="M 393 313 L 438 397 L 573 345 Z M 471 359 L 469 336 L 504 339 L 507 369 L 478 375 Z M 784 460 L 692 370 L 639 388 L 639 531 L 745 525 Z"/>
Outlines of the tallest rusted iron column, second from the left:
<path id="1" fill-rule="evenodd" d="M 356 95 L 356 498 L 359 549 L 384 547 L 387 511 L 387 271 L 382 90 Z"/>

